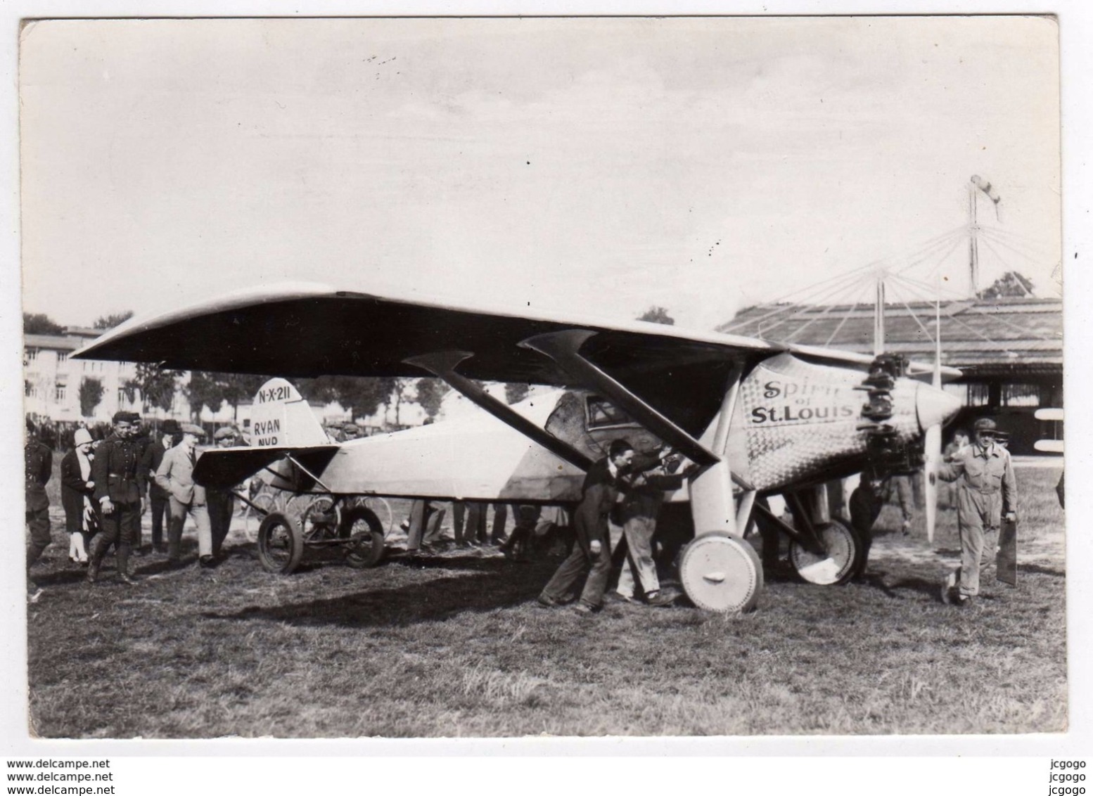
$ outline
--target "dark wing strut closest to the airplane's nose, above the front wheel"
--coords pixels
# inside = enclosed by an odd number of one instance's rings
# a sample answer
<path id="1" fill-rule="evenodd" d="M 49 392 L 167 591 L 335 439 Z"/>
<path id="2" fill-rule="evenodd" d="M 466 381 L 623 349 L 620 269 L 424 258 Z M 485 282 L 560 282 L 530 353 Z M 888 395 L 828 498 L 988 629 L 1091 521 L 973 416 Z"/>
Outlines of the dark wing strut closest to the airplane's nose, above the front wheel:
<path id="1" fill-rule="evenodd" d="M 521 340 L 519 344 L 554 360 L 574 381 L 610 398 L 616 407 L 695 464 L 709 467 L 721 460 L 683 429 L 581 356 L 578 350 L 593 335 L 595 331 L 587 329 L 566 329 L 536 335 Z"/>

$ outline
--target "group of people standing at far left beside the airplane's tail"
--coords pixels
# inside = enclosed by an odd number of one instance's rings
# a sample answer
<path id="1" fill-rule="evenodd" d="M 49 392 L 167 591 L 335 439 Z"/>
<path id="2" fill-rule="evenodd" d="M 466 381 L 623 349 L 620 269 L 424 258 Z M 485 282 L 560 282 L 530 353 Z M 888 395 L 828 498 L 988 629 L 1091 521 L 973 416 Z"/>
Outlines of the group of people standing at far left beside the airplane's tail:
<path id="1" fill-rule="evenodd" d="M 42 595 L 31 567 L 51 541 L 46 484 L 52 476 L 52 450 L 43 442 L 45 429 L 26 421 L 27 595 Z M 193 482 L 197 446 L 204 429 L 166 420 L 158 429 L 142 425 L 136 412 L 114 414 L 108 433 L 86 426 L 71 431 L 71 448 L 61 459 L 60 493 L 69 559 L 87 567 L 89 583 L 96 583 L 103 560 L 114 549 L 117 577 L 136 585 L 132 555 L 165 554 L 171 566 L 181 562 L 181 536 L 187 516 L 198 527 L 198 563 L 212 567 L 227 536 L 234 499 L 230 491 L 205 490 Z M 242 443 L 231 426 L 216 431 L 218 446 Z M 142 542 L 141 517 L 151 510 L 151 546 Z M 166 542 L 164 541 L 166 519 Z"/>

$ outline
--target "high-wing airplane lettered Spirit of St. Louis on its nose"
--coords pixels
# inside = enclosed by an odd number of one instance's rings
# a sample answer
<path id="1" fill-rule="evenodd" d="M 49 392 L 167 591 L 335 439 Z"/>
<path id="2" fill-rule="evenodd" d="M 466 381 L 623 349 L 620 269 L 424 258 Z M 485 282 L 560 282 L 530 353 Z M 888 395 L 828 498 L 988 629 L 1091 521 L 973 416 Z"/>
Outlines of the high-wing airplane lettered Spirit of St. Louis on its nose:
<path id="1" fill-rule="evenodd" d="M 670 446 L 697 466 L 665 508 L 690 539 L 680 583 L 717 611 L 757 601 L 763 567 L 747 541 L 756 523 L 789 537 L 804 581 L 849 580 L 865 564 L 862 540 L 831 516 L 825 482 L 866 468 L 910 472 L 924 453 L 937 461 L 924 436 L 940 447 L 940 428 L 961 408 L 939 386 L 960 371 L 938 363 L 313 283 L 133 318 L 74 356 L 278 374 L 255 397 L 251 446 L 210 450 L 195 472 L 218 488 L 260 473 L 294 499 L 321 496 L 315 516 L 262 520 L 259 555 L 273 572 L 292 572 L 312 542 L 346 546 L 357 566 L 378 563 L 384 530 L 362 496 L 572 504 L 611 440 Z M 324 374 L 435 376 L 485 411 L 334 444 L 286 381 Z M 510 407 L 479 381 L 556 389 Z M 771 512 L 771 495 L 792 522 Z"/>

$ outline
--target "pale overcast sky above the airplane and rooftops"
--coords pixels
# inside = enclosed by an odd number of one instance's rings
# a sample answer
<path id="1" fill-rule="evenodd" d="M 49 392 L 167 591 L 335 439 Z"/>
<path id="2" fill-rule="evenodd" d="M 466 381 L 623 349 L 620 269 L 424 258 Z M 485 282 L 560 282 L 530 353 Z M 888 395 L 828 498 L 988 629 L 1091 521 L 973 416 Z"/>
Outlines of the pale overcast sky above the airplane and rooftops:
<path id="1" fill-rule="evenodd" d="M 309 280 L 709 328 L 966 224 L 973 174 L 983 281 L 1059 294 L 1044 19 L 45 22 L 20 92 L 61 324 Z"/>

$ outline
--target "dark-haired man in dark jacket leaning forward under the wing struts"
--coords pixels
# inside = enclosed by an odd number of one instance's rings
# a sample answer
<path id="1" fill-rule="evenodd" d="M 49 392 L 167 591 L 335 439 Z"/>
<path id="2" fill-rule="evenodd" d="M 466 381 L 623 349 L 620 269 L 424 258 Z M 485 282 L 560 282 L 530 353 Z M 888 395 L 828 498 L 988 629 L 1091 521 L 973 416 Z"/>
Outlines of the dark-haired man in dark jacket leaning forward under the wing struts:
<path id="1" fill-rule="evenodd" d="M 572 601 L 577 582 L 586 572 L 588 578 L 575 609 L 591 613 L 603 605 L 603 593 L 611 574 L 608 515 L 619 496 L 619 477 L 633 459 L 634 447 L 626 440 L 613 440 L 608 455 L 588 469 L 580 488 L 580 503 L 574 513 L 577 543 L 543 587 L 539 605 L 553 608 Z"/>

